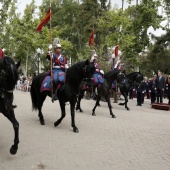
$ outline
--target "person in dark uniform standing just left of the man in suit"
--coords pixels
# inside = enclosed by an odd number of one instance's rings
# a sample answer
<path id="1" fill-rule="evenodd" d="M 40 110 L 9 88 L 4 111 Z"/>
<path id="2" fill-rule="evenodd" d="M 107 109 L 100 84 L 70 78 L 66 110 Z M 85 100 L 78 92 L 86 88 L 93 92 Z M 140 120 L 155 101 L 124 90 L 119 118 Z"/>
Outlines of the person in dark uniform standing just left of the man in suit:
<path id="1" fill-rule="evenodd" d="M 149 90 L 151 94 L 151 104 L 155 103 L 156 100 L 156 75 L 153 75 L 152 80 L 149 83 Z"/>

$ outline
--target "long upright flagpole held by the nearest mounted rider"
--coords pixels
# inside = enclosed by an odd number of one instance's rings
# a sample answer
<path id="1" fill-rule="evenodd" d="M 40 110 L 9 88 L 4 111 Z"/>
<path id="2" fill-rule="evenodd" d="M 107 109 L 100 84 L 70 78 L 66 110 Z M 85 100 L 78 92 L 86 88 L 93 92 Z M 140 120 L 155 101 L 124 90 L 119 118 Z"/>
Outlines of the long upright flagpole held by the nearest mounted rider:
<path id="1" fill-rule="evenodd" d="M 50 44 L 52 44 L 52 9 L 50 0 Z M 50 71 L 51 71 L 51 98 L 53 98 L 53 53 L 50 52 Z M 54 101 L 52 100 L 54 103 Z"/>

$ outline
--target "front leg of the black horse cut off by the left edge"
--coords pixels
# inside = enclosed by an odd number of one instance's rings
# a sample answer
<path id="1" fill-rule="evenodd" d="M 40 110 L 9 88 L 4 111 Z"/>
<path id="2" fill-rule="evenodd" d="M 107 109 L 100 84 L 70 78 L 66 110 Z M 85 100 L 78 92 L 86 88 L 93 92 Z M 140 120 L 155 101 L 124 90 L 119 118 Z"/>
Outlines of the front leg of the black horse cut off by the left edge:
<path id="1" fill-rule="evenodd" d="M 11 105 L 12 107 L 12 105 Z M 9 109 L 6 113 L 3 113 L 5 117 L 7 117 L 9 119 L 9 121 L 11 121 L 13 128 L 14 128 L 14 145 L 11 146 L 10 148 L 10 153 L 12 155 L 15 155 L 17 153 L 18 150 L 18 143 L 19 143 L 19 123 L 15 118 L 15 114 L 14 114 L 14 109 L 11 108 Z"/>

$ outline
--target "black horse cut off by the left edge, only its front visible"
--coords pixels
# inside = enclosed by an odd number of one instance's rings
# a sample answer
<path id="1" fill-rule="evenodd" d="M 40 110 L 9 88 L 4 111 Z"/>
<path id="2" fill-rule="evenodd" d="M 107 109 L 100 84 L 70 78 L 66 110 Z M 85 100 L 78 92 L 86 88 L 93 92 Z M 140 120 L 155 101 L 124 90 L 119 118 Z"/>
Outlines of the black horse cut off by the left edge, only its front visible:
<path id="1" fill-rule="evenodd" d="M 0 59 L 0 112 L 13 124 L 15 137 L 14 145 L 11 146 L 10 153 L 16 154 L 19 143 L 19 123 L 15 118 L 13 102 L 13 90 L 18 80 L 18 67 L 12 58 L 3 57 Z"/>

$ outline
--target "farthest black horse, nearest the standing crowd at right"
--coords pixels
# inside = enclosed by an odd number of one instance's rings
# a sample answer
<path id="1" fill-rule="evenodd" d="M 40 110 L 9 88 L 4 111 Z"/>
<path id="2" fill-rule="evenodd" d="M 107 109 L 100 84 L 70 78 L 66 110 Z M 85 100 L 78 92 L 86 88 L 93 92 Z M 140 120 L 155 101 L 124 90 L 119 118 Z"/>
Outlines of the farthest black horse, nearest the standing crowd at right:
<path id="1" fill-rule="evenodd" d="M 134 82 L 141 83 L 141 81 L 143 81 L 143 74 L 141 74 L 140 72 L 133 72 L 126 76 L 125 82 L 119 84 L 120 92 L 124 96 L 125 102 L 119 103 L 119 105 L 122 105 L 122 106 L 125 105 L 125 108 L 127 110 L 130 110 L 127 106 L 128 92 L 130 90 L 130 87 L 132 86 L 132 83 Z"/>

